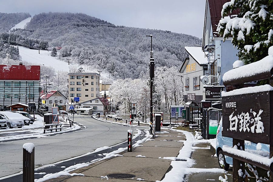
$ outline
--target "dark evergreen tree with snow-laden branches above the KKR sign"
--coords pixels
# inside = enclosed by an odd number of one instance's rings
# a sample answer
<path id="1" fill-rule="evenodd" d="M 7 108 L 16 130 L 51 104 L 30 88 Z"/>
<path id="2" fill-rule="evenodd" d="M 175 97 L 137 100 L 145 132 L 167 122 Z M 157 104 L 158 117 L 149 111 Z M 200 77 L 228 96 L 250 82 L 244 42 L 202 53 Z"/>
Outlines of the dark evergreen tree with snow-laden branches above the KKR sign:
<path id="1" fill-rule="evenodd" d="M 228 16 L 239 10 L 238 15 Z M 224 38 L 232 37 L 239 49 L 238 56 L 246 64 L 268 55 L 273 45 L 273 1 L 232 0 L 223 5 L 217 31 Z"/>

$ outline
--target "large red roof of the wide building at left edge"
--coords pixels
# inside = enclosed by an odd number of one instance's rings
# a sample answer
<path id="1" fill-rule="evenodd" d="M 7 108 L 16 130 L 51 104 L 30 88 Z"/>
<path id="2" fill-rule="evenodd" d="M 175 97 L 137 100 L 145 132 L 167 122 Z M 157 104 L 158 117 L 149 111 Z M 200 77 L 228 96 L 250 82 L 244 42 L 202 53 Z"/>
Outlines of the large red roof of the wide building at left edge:
<path id="1" fill-rule="evenodd" d="M 0 80 L 40 80 L 40 66 L 0 65 Z"/>

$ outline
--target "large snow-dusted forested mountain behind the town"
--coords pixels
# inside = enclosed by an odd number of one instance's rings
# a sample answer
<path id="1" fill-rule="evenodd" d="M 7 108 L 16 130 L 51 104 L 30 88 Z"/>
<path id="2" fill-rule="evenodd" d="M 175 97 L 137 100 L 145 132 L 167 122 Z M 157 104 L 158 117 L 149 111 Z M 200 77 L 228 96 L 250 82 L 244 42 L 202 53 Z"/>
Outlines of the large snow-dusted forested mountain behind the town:
<path id="1" fill-rule="evenodd" d="M 85 71 L 99 69 L 123 79 L 146 72 L 150 56 L 146 35 L 153 35 L 157 66 L 179 67 L 187 56 L 184 46 L 201 44 L 201 39 L 191 35 L 118 26 L 82 13 L 41 13 L 24 28 L 13 33 L 46 40 L 49 50 L 62 47 L 59 58 L 71 59 Z"/>

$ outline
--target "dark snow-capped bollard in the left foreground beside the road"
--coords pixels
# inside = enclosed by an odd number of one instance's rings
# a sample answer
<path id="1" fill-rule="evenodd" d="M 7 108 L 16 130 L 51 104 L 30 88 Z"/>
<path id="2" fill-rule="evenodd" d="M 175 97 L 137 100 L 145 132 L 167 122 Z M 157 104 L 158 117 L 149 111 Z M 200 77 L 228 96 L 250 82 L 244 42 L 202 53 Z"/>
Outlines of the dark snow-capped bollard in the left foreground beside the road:
<path id="1" fill-rule="evenodd" d="M 34 182 L 34 144 L 23 145 L 23 182 Z"/>

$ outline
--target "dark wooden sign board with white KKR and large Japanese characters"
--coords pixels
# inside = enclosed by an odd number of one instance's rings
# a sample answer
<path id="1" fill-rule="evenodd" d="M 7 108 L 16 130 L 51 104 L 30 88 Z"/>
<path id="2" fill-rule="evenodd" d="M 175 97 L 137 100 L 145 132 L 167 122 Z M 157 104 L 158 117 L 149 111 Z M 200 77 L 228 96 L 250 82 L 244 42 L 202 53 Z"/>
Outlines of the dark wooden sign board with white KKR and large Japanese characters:
<path id="1" fill-rule="evenodd" d="M 251 89 L 251 87 L 249 87 Z M 222 136 L 270 143 L 272 91 L 222 97 Z M 272 107 L 271 107 L 272 108 Z M 272 142 L 272 140 L 271 140 Z"/>

